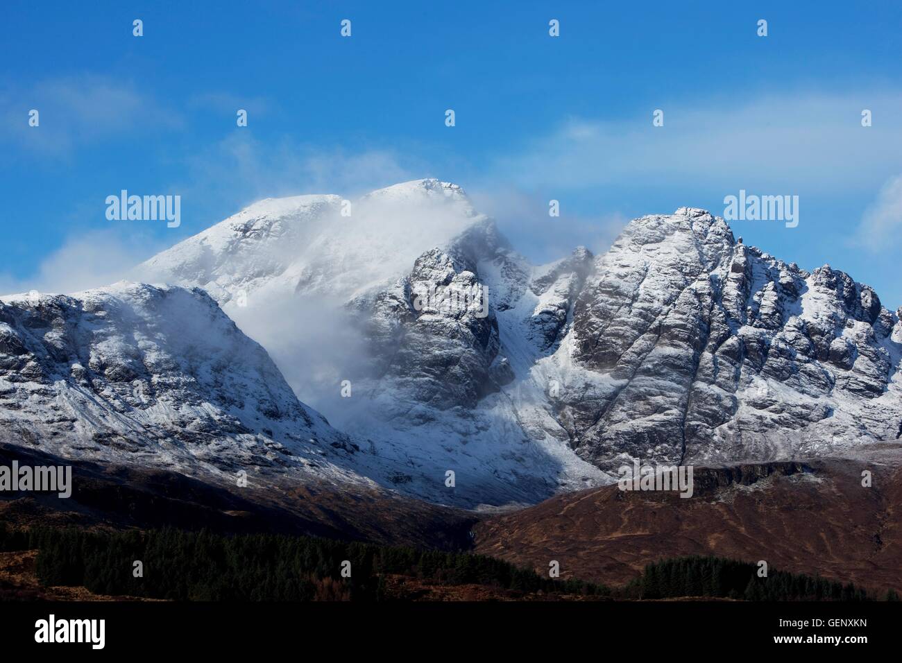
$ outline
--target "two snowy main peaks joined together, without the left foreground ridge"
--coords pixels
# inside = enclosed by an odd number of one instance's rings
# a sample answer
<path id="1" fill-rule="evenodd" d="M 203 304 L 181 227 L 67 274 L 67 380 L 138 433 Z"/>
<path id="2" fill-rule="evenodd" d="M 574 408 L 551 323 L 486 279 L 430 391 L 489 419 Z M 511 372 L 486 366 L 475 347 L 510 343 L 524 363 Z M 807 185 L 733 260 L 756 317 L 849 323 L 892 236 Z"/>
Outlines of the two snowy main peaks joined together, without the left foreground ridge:
<path id="1" fill-rule="evenodd" d="M 378 483 L 532 503 L 635 458 L 857 456 L 902 430 L 898 313 L 704 210 L 535 266 L 453 184 L 346 203 L 262 201 L 138 272 L 205 288 Z"/>

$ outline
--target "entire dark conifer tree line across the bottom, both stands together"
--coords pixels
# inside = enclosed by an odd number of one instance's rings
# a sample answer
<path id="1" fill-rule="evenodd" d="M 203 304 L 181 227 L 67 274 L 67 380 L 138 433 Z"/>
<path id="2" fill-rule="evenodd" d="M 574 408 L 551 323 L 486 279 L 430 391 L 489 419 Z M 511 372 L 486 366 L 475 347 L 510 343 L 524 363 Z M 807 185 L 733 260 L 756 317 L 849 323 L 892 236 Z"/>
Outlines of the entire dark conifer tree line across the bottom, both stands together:
<path id="1" fill-rule="evenodd" d="M 281 534 L 206 530 L 13 529 L 0 522 L 0 551 L 37 549 L 42 585 L 175 601 L 382 601 L 389 575 L 433 585 L 487 585 L 523 594 L 582 594 L 653 600 L 684 596 L 745 601 L 897 601 L 855 585 L 722 557 L 650 563 L 622 588 L 540 576 L 470 553 L 380 546 Z M 140 574 L 135 562 L 140 562 Z M 345 574 L 342 573 L 345 569 Z"/>

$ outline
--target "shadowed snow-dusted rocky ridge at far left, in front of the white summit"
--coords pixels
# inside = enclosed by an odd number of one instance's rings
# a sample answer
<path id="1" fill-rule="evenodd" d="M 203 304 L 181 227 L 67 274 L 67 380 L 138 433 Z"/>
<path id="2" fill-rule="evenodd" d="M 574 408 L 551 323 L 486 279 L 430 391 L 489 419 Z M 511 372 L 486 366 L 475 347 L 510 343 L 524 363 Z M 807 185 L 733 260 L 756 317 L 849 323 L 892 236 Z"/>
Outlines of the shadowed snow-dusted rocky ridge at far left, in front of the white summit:
<path id="1" fill-rule="evenodd" d="M 0 300 L 0 438 L 252 475 L 306 468 L 343 439 L 205 291 L 127 282 Z"/>

